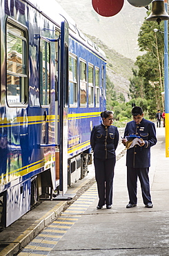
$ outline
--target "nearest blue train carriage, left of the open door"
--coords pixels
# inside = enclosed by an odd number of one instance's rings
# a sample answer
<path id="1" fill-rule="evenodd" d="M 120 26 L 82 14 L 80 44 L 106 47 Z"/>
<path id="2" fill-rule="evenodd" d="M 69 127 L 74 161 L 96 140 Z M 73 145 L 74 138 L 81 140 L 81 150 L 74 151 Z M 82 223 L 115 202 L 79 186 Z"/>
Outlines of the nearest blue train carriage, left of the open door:
<path id="1" fill-rule="evenodd" d="M 41 197 L 51 199 L 58 186 L 55 87 L 64 19 L 59 6 L 55 12 L 45 7 L 45 15 L 42 2 L 1 1 L 0 212 L 5 227 Z"/>

